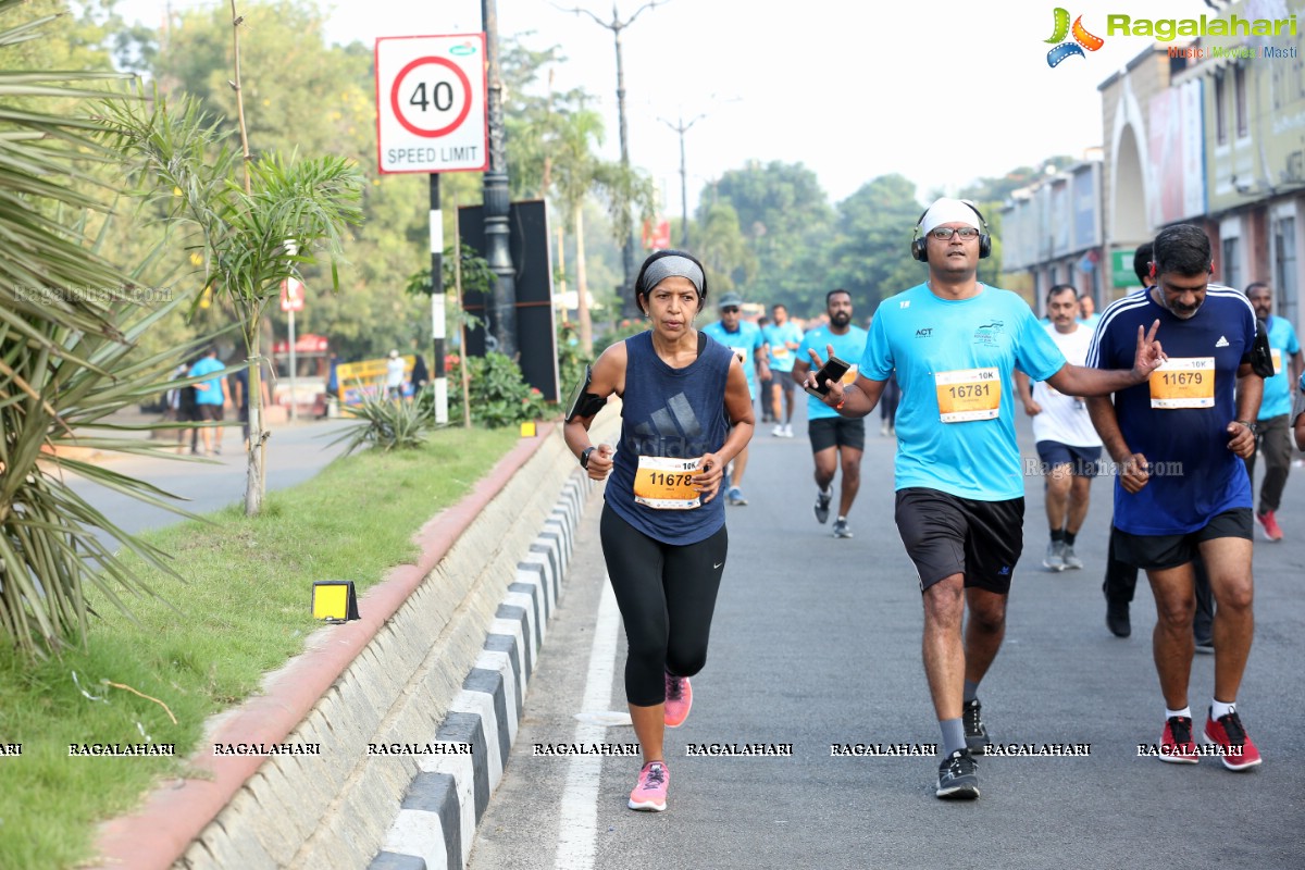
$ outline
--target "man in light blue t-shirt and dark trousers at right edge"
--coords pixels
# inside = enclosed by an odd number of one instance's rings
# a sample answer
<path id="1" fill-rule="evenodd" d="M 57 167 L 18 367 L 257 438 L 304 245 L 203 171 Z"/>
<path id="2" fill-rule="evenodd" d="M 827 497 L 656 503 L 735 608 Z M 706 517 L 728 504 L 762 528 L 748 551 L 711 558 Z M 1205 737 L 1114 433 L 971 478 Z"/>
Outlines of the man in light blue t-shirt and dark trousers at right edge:
<path id="1" fill-rule="evenodd" d="M 1305 359 L 1291 321 L 1274 317 L 1274 291 L 1268 284 L 1258 280 L 1248 284 L 1246 299 L 1255 309 L 1255 317 L 1268 326 L 1268 350 L 1274 356 L 1275 372 L 1274 377 L 1265 378 L 1265 398 L 1255 419 L 1259 428 L 1255 453 L 1246 459 L 1246 475 L 1254 485 L 1255 457 L 1265 454 L 1265 481 L 1259 485 L 1255 522 L 1259 523 L 1265 540 L 1280 541 L 1283 530 L 1278 526 L 1275 514 L 1283 503 L 1283 489 L 1287 488 L 1287 475 L 1292 470 L 1292 438 L 1287 419 L 1292 411 L 1292 383 L 1300 380 Z"/>

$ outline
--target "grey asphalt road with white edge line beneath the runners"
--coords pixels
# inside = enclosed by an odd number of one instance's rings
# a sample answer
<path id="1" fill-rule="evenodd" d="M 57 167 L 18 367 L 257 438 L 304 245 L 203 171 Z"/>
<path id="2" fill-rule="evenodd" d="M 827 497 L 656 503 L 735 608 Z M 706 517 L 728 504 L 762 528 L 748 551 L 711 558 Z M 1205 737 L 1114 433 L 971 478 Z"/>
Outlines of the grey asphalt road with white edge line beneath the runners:
<path id="1" fill-rule="evenodd" d="M 1305 785 L 1292 767 L 1292 734 L 1305 723 L 1305 470 L 1295 470 L 1279 513 L 1288 540 L 1255 547 L 1255 646 L 1238 708 L 1261 767 L 1138 757 L 1164 725 L 1155 607 L 1143 578 L 1133 637 L 1105 629 L 1111 483 L 1092 488 L 1077 547 L 1087 567 L 1049 574 L 1041 485 L 1031 479 L 1006 642 L 980 690 L 984 719 L 998 742 L 1086 743 L 1090 755 L 983 759 L 983 797 L 954 803 L 933 796 L 937 758 L 831 757 L 833 743 L 938 741 L 920 595 L 893 523 L 894 441 L 880 437 L 877 417 L 868 423 L 851 540 L 812 515 L 801 420 L 796 438 L 769 427 L 754 438 L 750 503 L 728 514 L 707 667 L 693 680 L 689 720 L 668 732 L 662 814 L 625 809 L 638 758 L 534 754 L 535 743 L 634 741 L 629 727 L 591 716 L 625 710 L 624 633 L 596 620 L 606 579 L 594 496 L 472 870 L 1305 866 Z M 1019 428 L 1034 457 L 1024 419 Z M 1212 674 L 1212 659 L 1197 656 L 1190 703 L 1202 717 Z M 792 757 L 686 757 L 689 745 L 745 742 L 791 743 Z"/>

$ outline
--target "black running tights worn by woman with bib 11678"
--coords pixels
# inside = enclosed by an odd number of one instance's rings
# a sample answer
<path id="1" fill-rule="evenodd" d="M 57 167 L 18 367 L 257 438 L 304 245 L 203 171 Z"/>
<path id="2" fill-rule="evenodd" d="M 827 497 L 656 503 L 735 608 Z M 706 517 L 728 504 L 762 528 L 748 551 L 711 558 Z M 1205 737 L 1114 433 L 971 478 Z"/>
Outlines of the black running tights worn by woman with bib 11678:
<path id="1" fill-rule="evenodd" d="M 697 544 L 663 544 L 604 505 L 603 558 L 625 622 L 625 697 L 666 702 L 666 677 L 692 677 L 707 661 L 707 635 L 729 539 L 722 526 Z"/>

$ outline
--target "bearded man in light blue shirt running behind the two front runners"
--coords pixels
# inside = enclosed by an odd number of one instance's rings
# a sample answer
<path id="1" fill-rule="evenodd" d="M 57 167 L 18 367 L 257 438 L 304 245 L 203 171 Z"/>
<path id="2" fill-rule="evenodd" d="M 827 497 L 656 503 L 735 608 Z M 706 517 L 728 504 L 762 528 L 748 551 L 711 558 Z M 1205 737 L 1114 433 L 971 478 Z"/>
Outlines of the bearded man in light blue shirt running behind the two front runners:
<path id="1" fill-rule="evenodd" d="M 825 353 L 834 348 L 834 356 L 851 363 L 843 376 L 843 383 L 856 380 L 856 365 L 865 352 L 867 333 L 852 323 L 852 295 L 846 290 L 831 290 L 825 295 L 827 326 L 817 326 L 803 337 L 793 361 L 793 381 L 801 383 L 810 370 L 810 352 Z M 852 513 L 852 502 L 861 488 L 861 454 L 865 453 L 865 421 L 844 420 L 838 412 L 813 395 L 806 398 L 806 436 L 812 442 L 816 458 L 816 520 L 829 520 L 829 503 L 834 498 L 830 484 L 834 472 L 843 466 L 843 483 L 839 487 L 838 517 L 834 519 L 834 537 L 851 537 L 847 515 Z"/>

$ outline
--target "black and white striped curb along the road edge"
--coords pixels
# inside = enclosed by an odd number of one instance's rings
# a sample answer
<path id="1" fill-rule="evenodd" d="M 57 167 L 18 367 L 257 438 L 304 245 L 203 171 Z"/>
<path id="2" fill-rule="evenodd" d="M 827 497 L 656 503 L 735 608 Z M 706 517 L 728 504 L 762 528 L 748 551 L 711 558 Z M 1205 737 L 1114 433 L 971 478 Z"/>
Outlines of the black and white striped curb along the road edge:
<path id="1" fill-rule="evenodd" d="M 517 563 L 484 648 L 436 732 L 471 754 L 422 755 L 398 817 L 368 870 L 462 870 L 476 824 L 502 779 L 530 676 L 557 609 L 576 530 L 592 481 L 566 481 L 544 528 Z"/>

